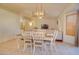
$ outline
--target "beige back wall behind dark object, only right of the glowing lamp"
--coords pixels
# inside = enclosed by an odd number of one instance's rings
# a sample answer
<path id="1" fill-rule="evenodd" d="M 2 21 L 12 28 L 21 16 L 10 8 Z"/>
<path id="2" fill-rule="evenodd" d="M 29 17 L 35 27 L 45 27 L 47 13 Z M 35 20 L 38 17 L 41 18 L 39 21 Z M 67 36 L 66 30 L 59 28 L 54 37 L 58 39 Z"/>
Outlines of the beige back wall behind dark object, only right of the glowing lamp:
<path id="1" fill-rule="evenodd" d="M 34 19 L 33 27 L 41 28 L 42 24 L 48 24 L 49 29 L 57 28 L 57 19 Z"/>

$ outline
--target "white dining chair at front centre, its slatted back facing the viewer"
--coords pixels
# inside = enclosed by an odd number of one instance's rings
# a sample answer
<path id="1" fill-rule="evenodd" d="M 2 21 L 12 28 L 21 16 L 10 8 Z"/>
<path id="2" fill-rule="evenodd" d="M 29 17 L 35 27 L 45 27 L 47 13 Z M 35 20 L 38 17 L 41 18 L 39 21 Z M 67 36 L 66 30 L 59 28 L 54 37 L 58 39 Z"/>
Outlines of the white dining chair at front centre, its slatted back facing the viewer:
<path id="1" fill-rule="evenodd" d="M 43 52 L 43 39 L 44 33 L 43 32 L 34 32 L 33 35 L 33 54 L 35 54 L 36 48 L 41 48 L 40 52 Z"/>

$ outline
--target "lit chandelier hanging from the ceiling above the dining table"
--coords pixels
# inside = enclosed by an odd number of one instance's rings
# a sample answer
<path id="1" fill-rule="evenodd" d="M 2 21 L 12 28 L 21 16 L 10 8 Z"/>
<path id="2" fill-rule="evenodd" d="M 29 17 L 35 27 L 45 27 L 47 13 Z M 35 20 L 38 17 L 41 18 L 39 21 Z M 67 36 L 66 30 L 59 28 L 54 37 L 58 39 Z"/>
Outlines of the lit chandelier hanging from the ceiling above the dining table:
<path id="1" fill-rule="evenodd" d="M 42 19 L 44 17 L 44 9 L 43 4 L 38 4 L 36 7 L 35 12 L 33 13 L 34 16 L 38 17 L 39 19 Z"/>

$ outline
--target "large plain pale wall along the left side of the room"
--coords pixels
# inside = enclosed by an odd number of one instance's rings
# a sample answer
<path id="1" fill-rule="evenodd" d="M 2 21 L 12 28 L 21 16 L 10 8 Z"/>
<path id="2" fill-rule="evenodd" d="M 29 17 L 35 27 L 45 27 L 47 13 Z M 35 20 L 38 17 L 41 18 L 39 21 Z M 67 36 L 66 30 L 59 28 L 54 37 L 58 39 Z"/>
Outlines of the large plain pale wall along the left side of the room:
<path id="1" fill-rule="evenodd" d="M 4 9 L 0 9 L 0 42 L 19 32 L 19 16 Z M 5 39 L 6 38 L 6 39 Z"/>

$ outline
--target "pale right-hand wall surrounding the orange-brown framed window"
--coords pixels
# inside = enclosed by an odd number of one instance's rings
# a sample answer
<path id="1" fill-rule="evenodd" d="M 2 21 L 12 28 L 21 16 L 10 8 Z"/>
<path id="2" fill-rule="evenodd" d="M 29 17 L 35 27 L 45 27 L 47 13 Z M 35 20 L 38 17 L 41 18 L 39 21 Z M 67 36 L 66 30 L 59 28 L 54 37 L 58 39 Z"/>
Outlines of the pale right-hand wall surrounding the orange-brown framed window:
<path id="1" fill-rule="evenodd" d="M 75 36 L 66 35 L 66 15 L 76 13 L 77 10 L 78 4 L 71 4 L 58 18 L 59 28 L 63 32 L 63 41 L 72 45 L 75 45 Z M 74 19 L 77 19 L 77 17 L 74 17 Z"/>

